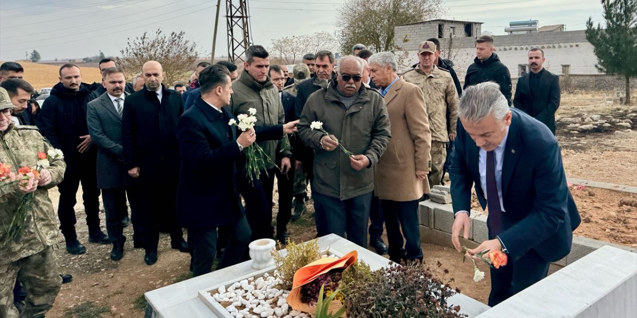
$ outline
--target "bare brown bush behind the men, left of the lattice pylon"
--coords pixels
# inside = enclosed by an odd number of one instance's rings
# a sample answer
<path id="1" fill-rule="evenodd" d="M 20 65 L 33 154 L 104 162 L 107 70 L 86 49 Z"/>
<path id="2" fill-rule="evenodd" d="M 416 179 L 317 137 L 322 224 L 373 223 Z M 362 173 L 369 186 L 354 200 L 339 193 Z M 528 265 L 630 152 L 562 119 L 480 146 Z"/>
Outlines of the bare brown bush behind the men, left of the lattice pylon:
<path id="1" fill-rule="evenodd" d="M 148 32 L 132 41 L 129 38 L 120 53 L 122 57 L 117 58 L 117 65 L 124 69 L 127 77 L 140 73 L 145 62 L 156 60 L 166 73 L 164 83 L 167 85 L 187 80 L 199 55 L 197 43 L 185 39 L 185 32 L 166 35 L 161 29 L 157 29 L 152 38 Z"/>

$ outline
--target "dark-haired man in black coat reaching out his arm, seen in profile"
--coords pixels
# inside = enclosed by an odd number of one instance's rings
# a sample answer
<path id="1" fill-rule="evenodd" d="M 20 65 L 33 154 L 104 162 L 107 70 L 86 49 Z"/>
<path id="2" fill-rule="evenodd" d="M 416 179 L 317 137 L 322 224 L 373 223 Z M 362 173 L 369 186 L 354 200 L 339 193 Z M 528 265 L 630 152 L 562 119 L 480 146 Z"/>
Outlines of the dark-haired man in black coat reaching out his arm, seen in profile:
<path id="1" fill-rule="evenodd" d="M 245 132 L 228 125 L 237 120 L 227 106 L 233 92 L 229 71 L 208 66 L 199 73 L 201 98 L 183 114 L 177 137 L 182 154 L 177 195 L 178 221 L 188 229 L 195 276 L 211 272 L 217 244 L 217 228 L 229 232 L 229 242 L 218 268 L 241 261 L 250 242 L 250 225 L 239 197 L 251 186 L 243 174 L 241 151 L 257 138 L 281 139 L 296 125 L 256 126 Z M 258 180 L 256 180 L 258 181 Z"/>

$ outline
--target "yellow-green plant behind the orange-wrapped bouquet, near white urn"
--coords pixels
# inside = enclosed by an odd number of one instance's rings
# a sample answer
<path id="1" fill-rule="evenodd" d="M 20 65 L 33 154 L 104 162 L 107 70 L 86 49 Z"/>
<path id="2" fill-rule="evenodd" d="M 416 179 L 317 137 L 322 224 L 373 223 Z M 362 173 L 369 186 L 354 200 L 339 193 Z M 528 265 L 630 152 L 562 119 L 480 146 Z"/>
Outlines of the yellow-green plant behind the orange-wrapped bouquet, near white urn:
<path id="1" fill-rule="evenodd" d="M 279 249 L 281 242 L 279 242 Z M 294 273 L 299 268 L 310 264 L 320 258 L 320 250 L 318 248 L 318 240 L 314 239 L 306 243 L 296 244 L 289 240 L 287 242 L 287 255 L 283 256 L 280 251 L 272 251 L 272 257 L 275 259 L 278 277 L 283 282 L 283 289 L 292 289 L 292 281 Z"/>

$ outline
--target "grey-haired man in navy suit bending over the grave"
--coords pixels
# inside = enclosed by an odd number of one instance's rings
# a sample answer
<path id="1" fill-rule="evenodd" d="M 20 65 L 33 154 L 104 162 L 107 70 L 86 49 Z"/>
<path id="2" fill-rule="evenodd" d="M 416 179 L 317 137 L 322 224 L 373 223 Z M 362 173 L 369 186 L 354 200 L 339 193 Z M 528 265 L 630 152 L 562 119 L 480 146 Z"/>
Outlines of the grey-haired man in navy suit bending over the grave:
<path id="1" fill-rule="evenodd" d="M 509 108 L 499 85 L 469 86 L 462 94 L 455 152 L 449 170 L 455 221 L 452 242 L 469 235 L 471 186 L 489 208 L 489 240 L 482 251 L 508 254 L 491 269 L 489 306 L 495 306 L 547 276 L 548 265 L 571 251 L 580 215 L 566 185 L 562 156 L 548 128 Z"/>

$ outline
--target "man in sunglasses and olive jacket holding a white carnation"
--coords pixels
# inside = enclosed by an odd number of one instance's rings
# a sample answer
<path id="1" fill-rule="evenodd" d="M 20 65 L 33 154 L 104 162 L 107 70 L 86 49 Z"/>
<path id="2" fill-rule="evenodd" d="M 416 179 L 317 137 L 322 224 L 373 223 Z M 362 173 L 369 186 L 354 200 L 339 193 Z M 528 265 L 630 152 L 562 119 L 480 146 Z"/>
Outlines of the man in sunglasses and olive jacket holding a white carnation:
<path id="1" fill-rule="evenodd" d="M 391 137 L 383 97 L 362 85 L 363 69 L 361 59 L 343 57 L 336 79 L 308 98 L 298 127 L 301 141 L 314 150 L 312 196 L 318 236 L 347 233 L 348 240 L 367 247 L 374 190 L 371 168 Z M 322 122 L 330 135 L 312 129 L 313 121 Z"/>

